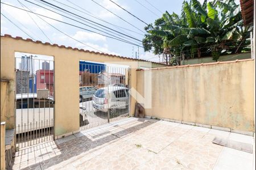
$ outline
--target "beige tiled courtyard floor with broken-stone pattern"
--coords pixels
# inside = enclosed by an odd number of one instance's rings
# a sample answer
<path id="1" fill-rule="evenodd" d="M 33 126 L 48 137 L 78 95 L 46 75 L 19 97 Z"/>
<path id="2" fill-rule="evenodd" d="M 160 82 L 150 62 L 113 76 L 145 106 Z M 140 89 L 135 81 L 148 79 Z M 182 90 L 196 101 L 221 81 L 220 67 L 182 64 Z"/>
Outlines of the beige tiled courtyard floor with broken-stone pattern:
<path id="1" fill-rule="evenodd" d="M 254 155 L 213 144 L 254 145 L 253 137 L 150 119 L 127 118 L 16 152 L 12 169 L 255 169 Z"/>

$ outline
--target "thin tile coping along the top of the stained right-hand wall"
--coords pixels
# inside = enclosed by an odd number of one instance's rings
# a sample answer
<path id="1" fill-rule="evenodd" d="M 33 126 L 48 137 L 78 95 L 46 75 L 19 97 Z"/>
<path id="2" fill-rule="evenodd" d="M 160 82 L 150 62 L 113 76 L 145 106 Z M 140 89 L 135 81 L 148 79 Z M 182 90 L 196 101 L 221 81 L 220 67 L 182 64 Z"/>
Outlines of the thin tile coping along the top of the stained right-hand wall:
<path id="1" fill-rule="evenodd" d="M 147 69 L 147 70 L 160 70 L 160 69 L 174 69 L 174 68 L 182 68 L 182 67 L 207 66 L 207 65 L 217 65 L 217 64 L 223 64 L 223 63 L 234 63 L 234 62 L 253 61 L 253 60 L 254 60 L 254 58 L 236 59 L 236 60 L 232 60 L 232 61 L 218 61 L 218 62 L 198 63 L 198 64 L 194 64 L 194 65 L 158 67 L 158 68 L 152 68 L 152 69 Z M 137 69 L 136 71 L 147 71 L 147 70 Z"/>

